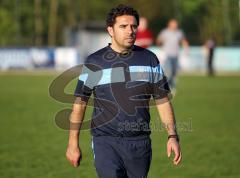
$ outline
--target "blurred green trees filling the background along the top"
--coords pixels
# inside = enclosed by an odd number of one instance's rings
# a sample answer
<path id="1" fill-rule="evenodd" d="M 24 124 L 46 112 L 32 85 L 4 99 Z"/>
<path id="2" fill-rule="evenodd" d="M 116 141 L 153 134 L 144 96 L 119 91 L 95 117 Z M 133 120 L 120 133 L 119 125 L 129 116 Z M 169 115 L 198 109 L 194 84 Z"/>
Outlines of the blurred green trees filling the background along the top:
<path id="1" fill-rule="evenodd" d="M 155 35 L 176 18 L 190 44 L 202 44 L 209 37 L 218 45 L 240 42 L 237 0 L 0 0 L 0 45 L 63 45 L 66 28 L 104 22 L 109 9 L 119 3 L 132 5 L 147 17 Z"/>

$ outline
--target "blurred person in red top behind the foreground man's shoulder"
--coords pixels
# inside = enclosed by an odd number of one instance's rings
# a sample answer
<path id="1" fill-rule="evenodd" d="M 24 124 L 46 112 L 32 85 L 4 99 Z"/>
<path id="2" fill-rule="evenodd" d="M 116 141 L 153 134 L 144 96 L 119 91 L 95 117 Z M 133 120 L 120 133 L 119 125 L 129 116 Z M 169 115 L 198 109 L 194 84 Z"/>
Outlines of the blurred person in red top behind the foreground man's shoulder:
<path id="1" fill-rule="evenodd" d="M 142 48 L 148 48 L 153 44 L 153 34 L 148 29 L 148 20 L 145 17 L 140 18 L 135 44 Z"/>

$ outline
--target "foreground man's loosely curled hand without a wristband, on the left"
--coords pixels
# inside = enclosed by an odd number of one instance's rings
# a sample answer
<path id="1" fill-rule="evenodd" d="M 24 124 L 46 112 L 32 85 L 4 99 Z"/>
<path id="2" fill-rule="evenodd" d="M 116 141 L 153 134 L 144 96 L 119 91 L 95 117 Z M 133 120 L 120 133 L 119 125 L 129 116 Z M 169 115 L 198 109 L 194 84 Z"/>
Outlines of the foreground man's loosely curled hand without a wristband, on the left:
<path id="1" fill-rule="evenodd" d="M 71 165 L 73 165 L 74 167 L 78 167 L 82 159 L 80 147 L 68 145 L 66 157 L 68 161 L 71 163 Z"/>

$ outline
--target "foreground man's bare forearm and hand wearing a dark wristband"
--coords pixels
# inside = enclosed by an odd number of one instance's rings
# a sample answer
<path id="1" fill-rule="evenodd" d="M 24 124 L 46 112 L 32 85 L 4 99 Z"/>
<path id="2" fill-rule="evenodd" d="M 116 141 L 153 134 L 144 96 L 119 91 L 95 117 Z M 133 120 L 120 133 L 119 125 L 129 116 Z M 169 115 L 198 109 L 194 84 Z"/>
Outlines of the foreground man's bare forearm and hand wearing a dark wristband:
<path id="1" fill-rule="evenodd" d="M 175 154 L 173 164 L 178 165 L 182 159 L 182 155 L 172 104 L 169 101 L 168 97 L 157 99 L 155 102 L 159 115 L 161 117 L 161 121 L 164 124 L 169 135 L 167 142 L 167 155 L 170 157 L 171 152 L 173 151 Z"/>

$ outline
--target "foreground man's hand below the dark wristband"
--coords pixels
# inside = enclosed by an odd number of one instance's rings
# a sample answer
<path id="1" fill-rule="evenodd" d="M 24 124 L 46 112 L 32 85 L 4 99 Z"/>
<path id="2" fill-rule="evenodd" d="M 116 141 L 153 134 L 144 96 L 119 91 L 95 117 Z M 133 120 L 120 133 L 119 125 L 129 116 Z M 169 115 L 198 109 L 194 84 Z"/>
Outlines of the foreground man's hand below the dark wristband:
<path id="1" fill-rule="evenodd" d="M 179 145 L 178 141 L 176 140 L 176 138 L 169 138 L 169 140 L 167 142 L 168 157 L 171 156 L 172 151 L 175 154 L 174 159 L 173 159 L 173 164 L 178 165 L 182 159 L 182 155 L 181 155 L 180 145 Z"/>

